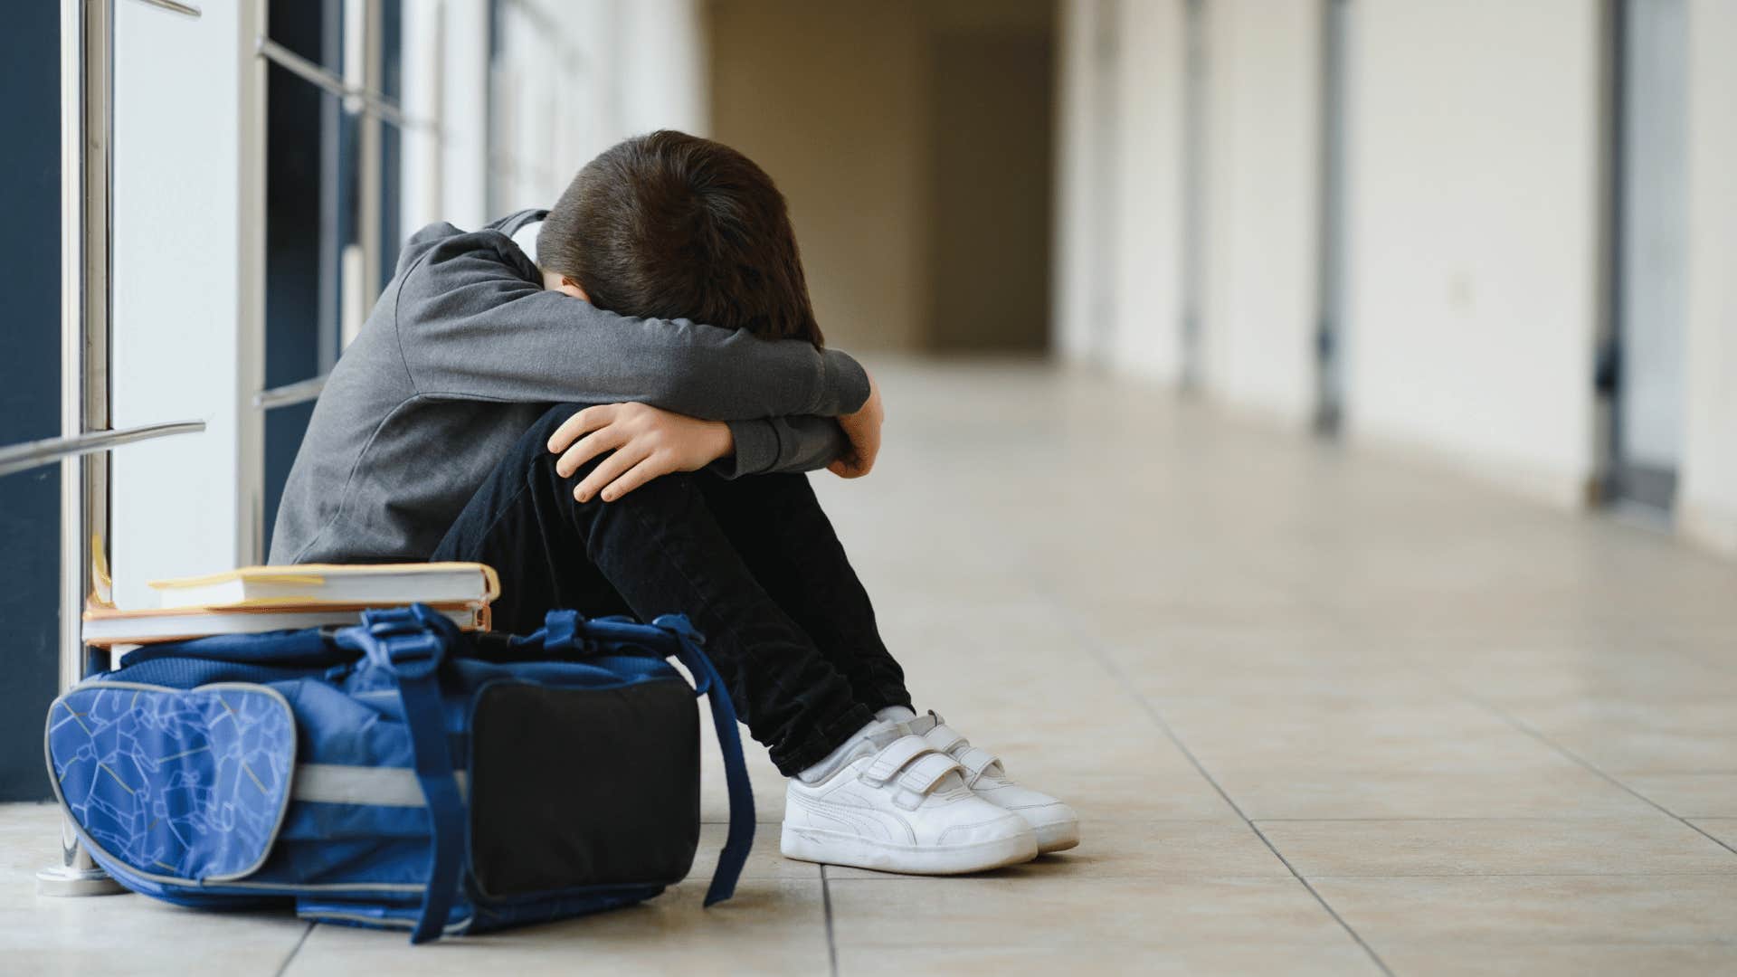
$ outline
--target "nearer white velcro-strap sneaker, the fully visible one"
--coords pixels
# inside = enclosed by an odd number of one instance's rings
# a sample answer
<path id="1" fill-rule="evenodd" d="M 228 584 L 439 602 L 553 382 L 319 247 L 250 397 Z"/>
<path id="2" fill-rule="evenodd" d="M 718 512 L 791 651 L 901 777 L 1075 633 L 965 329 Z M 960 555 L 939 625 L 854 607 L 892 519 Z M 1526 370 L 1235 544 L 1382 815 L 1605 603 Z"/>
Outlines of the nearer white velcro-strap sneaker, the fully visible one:
<path id="1" fill-rule="evenodd" d="M 785 789 L 787 859 L 908 874 L 959 874 L 1037 857 L 1014 814 L 971 793 L 962 767 L 921 735 L 865 739 L 825 779 Z"/>

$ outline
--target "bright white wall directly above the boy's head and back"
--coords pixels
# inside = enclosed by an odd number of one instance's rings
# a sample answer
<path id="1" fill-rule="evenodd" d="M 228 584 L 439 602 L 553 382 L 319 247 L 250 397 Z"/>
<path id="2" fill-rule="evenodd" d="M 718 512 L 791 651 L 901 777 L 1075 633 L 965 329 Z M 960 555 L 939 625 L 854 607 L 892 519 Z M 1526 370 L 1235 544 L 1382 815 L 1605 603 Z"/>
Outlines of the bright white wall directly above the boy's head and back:
<path id="1" fill-rule="evenodd" d="M 509 0 L 495 64 L 488 0 L 419 0 L 403 17 L 405 111 L 441 127 L 405 134 L 406 233 L 547 207 L 627 136 L 707 130 L 698 0 Z"/>

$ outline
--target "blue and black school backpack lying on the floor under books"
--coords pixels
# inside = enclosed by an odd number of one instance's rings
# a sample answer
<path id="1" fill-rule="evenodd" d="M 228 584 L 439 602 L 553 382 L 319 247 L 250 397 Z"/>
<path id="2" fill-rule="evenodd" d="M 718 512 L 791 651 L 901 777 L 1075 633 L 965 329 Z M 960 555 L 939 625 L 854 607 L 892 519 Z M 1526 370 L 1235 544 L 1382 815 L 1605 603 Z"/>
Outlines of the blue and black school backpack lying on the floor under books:
<path id="1" fill-rule="evenodd" d="M 49 774 L 90 857 L 167 902 L 426 942 L 650 899 L 693 866 L 707 692 L 730 789 L 707 906 L 754 841 L 735 709 L 681 615 L 507 636 L 413 605 L 120 664 L 54 701 Z"/>

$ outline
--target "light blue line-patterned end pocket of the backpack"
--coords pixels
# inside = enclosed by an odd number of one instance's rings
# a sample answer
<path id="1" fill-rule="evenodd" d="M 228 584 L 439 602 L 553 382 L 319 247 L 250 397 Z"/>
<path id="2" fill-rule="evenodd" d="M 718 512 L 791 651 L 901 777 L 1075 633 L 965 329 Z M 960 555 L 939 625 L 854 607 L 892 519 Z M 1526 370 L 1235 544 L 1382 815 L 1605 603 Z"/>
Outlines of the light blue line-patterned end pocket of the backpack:
<path id="1" fill-rule="evenodd" d="M 83 685 L 49 716 L 73 819 L 134 871 L 201 881 L 264 861 L 283 817 L 295 723 L 259 687 Z"/>

